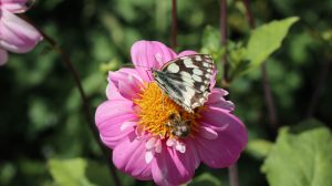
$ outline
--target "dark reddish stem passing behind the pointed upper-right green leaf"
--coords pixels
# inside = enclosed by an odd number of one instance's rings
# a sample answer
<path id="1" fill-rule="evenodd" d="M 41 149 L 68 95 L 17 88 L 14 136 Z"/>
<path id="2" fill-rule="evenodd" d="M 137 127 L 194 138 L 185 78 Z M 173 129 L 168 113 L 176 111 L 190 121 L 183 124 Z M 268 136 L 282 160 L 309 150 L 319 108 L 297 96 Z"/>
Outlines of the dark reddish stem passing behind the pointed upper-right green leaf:
<path id="1" fill-rule="evenodd" d="M 249 27 L 251 29 L 255 29 L 255 20 L 253 20 L 252 13 L 251 13 L 249 0 L 243 0 L 243 4 L 246 8 Z M 273 96 L 271 93 L 271 86 L 270 86 L 270 83 L 268 80 L 266 62 L 263 62 L 261 64 L 261 74 L 262 74 L 262 85 L 263 85 L 263 90 L 264 90 L 266 104 L 268 106 L 268 113 L 269 113 L 269 125 L 270 125 L 272 135 L 276 135 L 277 130 L 278 130 L 278 117 L 277 117 L 274 100 L 273 100 Z"/>

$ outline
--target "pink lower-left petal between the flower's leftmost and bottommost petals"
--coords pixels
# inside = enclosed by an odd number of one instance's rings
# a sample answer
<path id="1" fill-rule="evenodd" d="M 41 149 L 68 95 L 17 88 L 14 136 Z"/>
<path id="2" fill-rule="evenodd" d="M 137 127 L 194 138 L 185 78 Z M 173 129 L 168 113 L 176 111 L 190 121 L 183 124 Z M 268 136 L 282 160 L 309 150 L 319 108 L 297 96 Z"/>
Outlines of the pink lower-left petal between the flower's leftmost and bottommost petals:
<path id="1" fill-rule="evenodd" d="M 132 133 L 114 148 L 114 165 L 137 179 L 152 179 L 151 164 L 145 162 L 145 151 L 144 141 L 136 140 Z"/>

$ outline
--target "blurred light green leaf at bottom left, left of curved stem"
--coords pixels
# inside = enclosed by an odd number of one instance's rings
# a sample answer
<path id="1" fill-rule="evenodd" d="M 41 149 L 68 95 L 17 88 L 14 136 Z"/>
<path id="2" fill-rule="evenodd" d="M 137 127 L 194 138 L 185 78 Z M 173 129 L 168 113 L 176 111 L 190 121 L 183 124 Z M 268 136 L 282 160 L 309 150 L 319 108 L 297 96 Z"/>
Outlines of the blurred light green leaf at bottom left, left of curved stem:
<path id="1" fill-rule="evenodd" d="M 85 177 L 87 162 L 83 158 L 50 159 L 49 168 L 60 186 L 94 186 Z"/>

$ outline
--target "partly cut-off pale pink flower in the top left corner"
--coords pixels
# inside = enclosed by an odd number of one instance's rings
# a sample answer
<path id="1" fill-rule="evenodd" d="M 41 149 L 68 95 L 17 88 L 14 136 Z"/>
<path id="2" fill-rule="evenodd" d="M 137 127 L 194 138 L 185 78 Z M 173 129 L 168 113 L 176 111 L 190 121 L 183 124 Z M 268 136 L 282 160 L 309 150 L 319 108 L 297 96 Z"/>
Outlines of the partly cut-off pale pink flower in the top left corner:
<path id="1" fill-rule="evenodd" d="M 28 0 L 0 0 L 0 65 L 8 60 L 8 53 L 25 53 L 42 40 L 35 28 L 14 13 L 27 11 Z"/>

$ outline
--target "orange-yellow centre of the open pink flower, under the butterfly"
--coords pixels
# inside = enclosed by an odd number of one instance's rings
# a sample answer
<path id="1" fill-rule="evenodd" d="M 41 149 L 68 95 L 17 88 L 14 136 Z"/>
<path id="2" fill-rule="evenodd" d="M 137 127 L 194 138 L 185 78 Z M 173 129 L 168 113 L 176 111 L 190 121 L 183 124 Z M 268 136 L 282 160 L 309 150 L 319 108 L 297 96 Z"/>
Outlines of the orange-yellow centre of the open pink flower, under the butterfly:
<path id="1" fill-rule="evenodd" d="M 139 96 L 139 99 L 134 100 L 134 103 L 141 107 L 137 113 L 141 118 L 137 127 L 162 138 L 177 138 L 172 134 L 172 127 L 167 126 L 167 123 L 170 115 L 179 114 L 181 120 L 189 121 L 190 134 L 188 136 L 194 137 L 194 134 L 198 131 L 196 120 L 200 117 L 198 114 L 200 108 L 195 113 L 186 112 L 165 95 L 154 82 L 147 84 Z"/>

